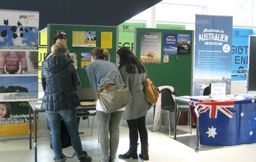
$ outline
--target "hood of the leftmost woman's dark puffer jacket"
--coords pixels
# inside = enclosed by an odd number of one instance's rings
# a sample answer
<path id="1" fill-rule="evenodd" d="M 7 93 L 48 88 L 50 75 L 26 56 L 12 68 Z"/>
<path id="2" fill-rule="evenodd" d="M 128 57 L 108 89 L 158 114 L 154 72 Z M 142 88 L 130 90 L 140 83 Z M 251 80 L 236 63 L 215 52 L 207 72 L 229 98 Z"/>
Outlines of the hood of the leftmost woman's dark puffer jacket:
<path id="1" fill-rule="evenodd" d="M 62 53 L 56 53 L 50 58 L 46 59 L 46 67 L 52 73 L 57 73 L 65 68 L 68 64 L 72 63 L 72 60 Z"/>

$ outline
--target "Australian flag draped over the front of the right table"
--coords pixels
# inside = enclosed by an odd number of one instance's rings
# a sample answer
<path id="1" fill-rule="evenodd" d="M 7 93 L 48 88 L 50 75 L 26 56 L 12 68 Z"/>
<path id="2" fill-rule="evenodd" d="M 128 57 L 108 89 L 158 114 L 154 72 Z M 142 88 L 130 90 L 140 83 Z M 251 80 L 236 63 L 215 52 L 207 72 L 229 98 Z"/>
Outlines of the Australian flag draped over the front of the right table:
<path id="1" fill-rule="evenodd" d="M 200 144 L 232 146 L 256 143 L 256 99 L 190 101 L 199 122 Z"/>

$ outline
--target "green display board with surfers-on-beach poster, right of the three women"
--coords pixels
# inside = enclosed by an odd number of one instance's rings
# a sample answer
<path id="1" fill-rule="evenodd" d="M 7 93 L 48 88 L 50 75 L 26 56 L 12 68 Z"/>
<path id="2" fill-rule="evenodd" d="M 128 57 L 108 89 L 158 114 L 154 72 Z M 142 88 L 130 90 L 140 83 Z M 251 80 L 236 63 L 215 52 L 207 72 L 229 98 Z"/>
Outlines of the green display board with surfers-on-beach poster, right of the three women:
<path id="1" fill-rule="evenodd" d="M 144 35 L 144 33 L 151 33 L 151 32 L 158 33 L 158 35 L 161 36 L 161 63 L 160 64 L 144 64 L 154 85 L 156 87 L 173 86 L 179 96 L 191 95 L 191 92 L 192 92 L 191 78 L 193 78 L 192 71 L 193 71 L 194 31 L 136 28 L 134 53 L 138 58 L 140 58 L 141 49 L 143 48 L 141 47 L 141 41 L 142 41 L 141 37 Z M 190 35 L 191 37 L 190 53 L 188 53 L 188 55 L 168 55 L 169 62 L 163 63 L 165 33 Z"/>

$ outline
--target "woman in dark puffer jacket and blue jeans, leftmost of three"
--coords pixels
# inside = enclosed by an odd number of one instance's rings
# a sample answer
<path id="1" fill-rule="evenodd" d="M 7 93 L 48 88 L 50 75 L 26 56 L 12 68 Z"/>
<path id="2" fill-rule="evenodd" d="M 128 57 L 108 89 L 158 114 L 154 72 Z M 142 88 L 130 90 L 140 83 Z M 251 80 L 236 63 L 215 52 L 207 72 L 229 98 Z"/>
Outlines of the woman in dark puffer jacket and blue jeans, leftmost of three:
<path id="1" fill-rule="evenodd" d="M 82 150 L 78 134 L 75 107 L 80 105 L 76 88 L 81 86 L 74 65 L 67 55 L 67 45 L 55 43 L 51 47 L 52 55 L 42 62 L 41 82 L 45 92 L 41 109 L 45 110 L 51 127 L 52 148 L 56 162 L 66 161 L 62 155 L 60 141 L 60 120 L 62 118 L 70 134 L 71 143 L 78 161 L 90 162 L 92 158 Z"/>

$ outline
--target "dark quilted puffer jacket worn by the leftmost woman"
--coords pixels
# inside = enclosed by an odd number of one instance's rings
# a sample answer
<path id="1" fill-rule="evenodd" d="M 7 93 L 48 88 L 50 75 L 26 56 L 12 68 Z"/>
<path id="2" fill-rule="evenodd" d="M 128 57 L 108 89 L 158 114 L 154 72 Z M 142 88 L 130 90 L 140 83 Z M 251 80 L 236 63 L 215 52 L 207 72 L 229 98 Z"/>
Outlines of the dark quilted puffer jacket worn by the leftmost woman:
<path id="1" fill-rule="evenodd" d="M 41 109 L 70 110 L 80 105 L 76 93 L 80 80 L 71 59 L 63 53 L 56 53 L 42 62 L 41 81 L 45 91 Z"/>

